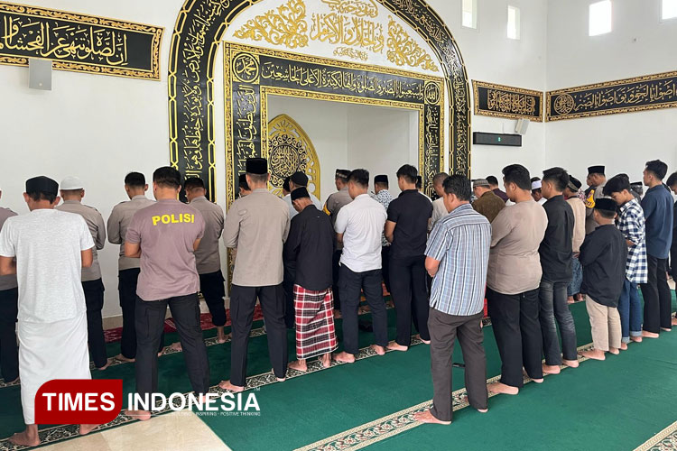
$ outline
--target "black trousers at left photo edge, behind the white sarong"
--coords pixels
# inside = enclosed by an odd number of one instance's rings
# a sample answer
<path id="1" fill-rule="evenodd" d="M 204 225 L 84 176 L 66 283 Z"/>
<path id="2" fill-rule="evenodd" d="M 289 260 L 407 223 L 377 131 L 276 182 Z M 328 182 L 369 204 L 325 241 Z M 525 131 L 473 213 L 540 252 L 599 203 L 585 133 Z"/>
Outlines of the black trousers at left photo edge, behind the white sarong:
<path id="1" fill-rule="evenodd" d="M 18 301 L 18 289 L 0 291 L 0 373 L 5 382 L 19 377 L 19 348 L 16 346 Z"/>

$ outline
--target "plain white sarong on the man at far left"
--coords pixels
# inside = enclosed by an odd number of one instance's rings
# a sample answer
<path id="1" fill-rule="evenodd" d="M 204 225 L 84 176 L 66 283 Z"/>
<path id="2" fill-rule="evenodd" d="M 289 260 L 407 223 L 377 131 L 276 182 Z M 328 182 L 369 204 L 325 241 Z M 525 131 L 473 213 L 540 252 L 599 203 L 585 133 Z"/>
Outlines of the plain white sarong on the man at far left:
<path id="1" fill-rule="evenodd" d="M 87 315 L 55 323 L 19 321 L 19 376 L 23 421 L 35 424 L 35 394 L 52 379 L 91 379 Z"/>

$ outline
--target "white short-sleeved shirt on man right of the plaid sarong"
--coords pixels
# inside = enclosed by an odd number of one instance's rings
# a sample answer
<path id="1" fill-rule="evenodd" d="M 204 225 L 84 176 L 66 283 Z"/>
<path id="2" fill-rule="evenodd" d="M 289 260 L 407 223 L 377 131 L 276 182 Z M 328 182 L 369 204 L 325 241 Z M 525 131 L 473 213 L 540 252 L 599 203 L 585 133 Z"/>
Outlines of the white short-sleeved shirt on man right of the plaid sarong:
<path id="1" fill-rule="evenodd" d="M 334 230 L 343 234 L 341 264 L 352 272 L 381 269 L 381 234 L 387 214 L 368 194 L 360 194 L 338 212 Z"/>

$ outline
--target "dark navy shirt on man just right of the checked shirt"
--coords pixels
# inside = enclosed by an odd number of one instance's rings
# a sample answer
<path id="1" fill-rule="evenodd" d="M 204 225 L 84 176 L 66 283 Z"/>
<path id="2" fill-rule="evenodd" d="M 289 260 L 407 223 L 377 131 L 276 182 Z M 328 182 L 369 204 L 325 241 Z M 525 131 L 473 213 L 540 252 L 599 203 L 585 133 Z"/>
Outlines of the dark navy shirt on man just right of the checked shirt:
<path id="1" fill-rule="evenodd" d="M 657 185 L 642 199 L 645 211 L 646 253 L 654 258 L 668 258 L 672 244 L 672 196 Z"/>

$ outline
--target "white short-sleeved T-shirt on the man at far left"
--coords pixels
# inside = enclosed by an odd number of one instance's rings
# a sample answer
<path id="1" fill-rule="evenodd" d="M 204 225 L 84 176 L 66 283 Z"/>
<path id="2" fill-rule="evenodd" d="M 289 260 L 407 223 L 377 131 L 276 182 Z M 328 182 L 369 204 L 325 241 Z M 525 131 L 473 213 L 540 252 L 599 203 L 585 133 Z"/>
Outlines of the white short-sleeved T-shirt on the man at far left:
<path id="1" fill-rule="evenodd" d="M 54 323 L 85 313 L 81 251 L 94 247 L 82 216 L 52 209 L 7 219 L 0 255 L 16 257 L 19 321 Z"/>

